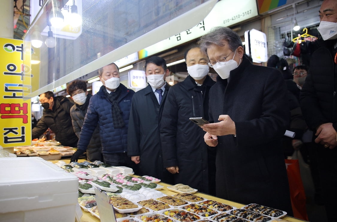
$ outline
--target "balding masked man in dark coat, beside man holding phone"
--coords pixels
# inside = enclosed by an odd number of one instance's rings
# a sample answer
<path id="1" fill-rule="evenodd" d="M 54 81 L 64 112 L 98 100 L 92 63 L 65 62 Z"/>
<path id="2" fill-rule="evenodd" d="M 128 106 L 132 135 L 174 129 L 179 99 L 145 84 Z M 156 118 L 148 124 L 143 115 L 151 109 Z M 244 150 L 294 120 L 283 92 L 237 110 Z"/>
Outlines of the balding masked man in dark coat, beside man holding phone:
<path id="1" fill-rule="evenodd" d="M 214 186 L 214 151 L 208 152 L 203 141 L 203 130 L 189 120 L 191 117 L 208 119 L 209 90 L 214 81 L 208 75 L 208 58 L 198 46 L 185 53 L 188 76 L 168 91 L 161 123 L 160 139 L 164 167 L 174 174 L 175 184 L 181 183 L 210 193 Z M 213 155 L 212 155 L 213 154 Z M 211 160 L 211 163 L 209 163 Z M 214 189 L 211 190 L 214 194 Z"/>

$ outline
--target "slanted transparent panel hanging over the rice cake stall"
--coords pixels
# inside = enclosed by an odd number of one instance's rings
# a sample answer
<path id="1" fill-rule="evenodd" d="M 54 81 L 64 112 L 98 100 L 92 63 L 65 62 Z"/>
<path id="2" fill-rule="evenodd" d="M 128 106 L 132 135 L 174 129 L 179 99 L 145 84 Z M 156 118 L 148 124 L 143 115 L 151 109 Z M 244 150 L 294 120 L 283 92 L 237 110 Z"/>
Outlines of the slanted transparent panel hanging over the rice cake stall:
<path id="1" fill-rule="evenodd" d="M 30 67 L 27 74 L 33 75 L 23 81 L 28 88 L 24 96 L 54 89 L 187 30 L 202 21 L 216 2 L 47 0 L 24 36 L 24 64 Z M 74 5 L 82 15 L 80 26 L 71 24 Z M 62 15 L 63 24 L 55 28 L 54 17 Z"/>

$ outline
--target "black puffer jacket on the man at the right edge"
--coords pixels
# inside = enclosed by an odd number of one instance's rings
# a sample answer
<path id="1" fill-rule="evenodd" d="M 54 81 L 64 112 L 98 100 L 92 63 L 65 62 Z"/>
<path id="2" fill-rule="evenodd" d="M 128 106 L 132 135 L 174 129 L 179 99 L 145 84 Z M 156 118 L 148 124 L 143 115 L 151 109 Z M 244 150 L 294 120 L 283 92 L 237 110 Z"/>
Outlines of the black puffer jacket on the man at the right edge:
<path id="1" fill-rule="evenodd" d="M 300 93 L 300 104 L 309 128 L 316 131 L 323 123 L 333 123 L 337 130 L 336 64 L 329 47 L 320 47 L 311 57 L 311 66 Z"/>

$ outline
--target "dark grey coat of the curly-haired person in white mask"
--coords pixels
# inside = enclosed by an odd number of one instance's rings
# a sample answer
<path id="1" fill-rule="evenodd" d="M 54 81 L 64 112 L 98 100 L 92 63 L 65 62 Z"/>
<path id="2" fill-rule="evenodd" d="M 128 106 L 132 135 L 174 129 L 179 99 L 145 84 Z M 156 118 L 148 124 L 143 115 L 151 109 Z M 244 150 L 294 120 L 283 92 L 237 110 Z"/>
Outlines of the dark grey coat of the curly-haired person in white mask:
<path id="1" fill-rule="evenodd" d="M 92 95 L 87 95 L 87 100 L 90 100 Z M 88 107 L 88 104 L 87 104 Z M 75 134 L 80 138 L 81 129 L 84 122 L 84 117 L 87 114 L 87 108 L 82 110 L 77 104 L 74 104 L 70 108 L 70 116 L 72 121 L 72 127 L 74 128 Z M 95 160 L 101 160 L 102 146 L 101 140 L 99 138 L 99 128 L 96 127 L 92 134 L 88 148 L 87 148 L 87 160 L 93 162 Z"/>

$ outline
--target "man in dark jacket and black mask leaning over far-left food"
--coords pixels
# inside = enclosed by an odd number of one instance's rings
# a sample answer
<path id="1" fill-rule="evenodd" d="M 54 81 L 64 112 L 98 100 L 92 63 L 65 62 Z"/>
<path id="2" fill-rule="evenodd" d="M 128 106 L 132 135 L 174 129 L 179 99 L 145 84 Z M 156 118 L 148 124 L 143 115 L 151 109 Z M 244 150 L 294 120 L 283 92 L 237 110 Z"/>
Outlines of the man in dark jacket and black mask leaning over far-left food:
<path id="1" fill-rule="evenodd" d="M 40 95 L 43 115 L 32 129 L 32 139 L 38 138 L 48 128 L 55 133 L 55 139 L 64 146 L 77 147 L 78 138 L 72 128 L 70 108 L 74 103 L 64 96 L 54 96 L 51 91 Z"/>

